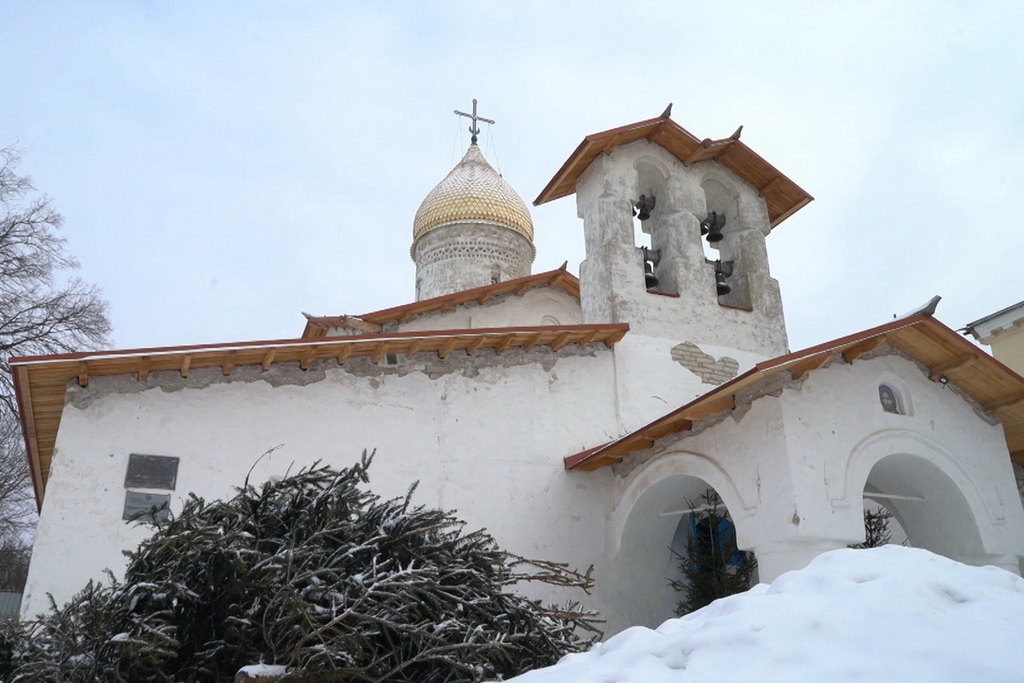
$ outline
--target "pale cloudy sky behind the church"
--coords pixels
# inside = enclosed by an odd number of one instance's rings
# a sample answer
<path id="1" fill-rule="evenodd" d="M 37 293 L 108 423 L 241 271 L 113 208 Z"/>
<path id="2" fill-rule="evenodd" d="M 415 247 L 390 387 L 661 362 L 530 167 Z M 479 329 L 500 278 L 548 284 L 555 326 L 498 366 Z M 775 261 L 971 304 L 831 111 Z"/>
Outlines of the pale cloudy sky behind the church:
<path id="1" fill-rule="evenodd" d="M 117 346 L 294 337 L 413 298 L 413 215 L 481 140 L 527 202 L 589 134 L 743 140 L 816 201 L 769 240 L 794 348 L 933 294 L 1024 299 L 1024 3 L 0 5 L 0 144 L 65 214 Z M 582 224 L 534 210 L 535 271 Z"/>

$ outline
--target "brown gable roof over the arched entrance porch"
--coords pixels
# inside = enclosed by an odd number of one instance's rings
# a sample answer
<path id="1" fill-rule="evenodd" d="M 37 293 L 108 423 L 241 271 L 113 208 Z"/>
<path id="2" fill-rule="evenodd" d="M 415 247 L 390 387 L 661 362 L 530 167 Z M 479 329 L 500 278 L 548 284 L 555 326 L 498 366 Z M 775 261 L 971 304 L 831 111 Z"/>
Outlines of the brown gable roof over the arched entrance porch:
<path id="1" fill-rule="evenodd" d="M 596 470 L 614 465 L 657 439 L 688 431 L 693 422 L 735 408 L 736 394 L 767 378 L 788 372 L 802 379 L 830 359 L 853 362 L 882 342 L 928 368 L 933 380 L 945 377 L 1002 421 L 1010 457 L 1024 464 L 1024 378 L 929 315 L 913 315 L 802 351 L 759 362 L 648 425 L 602 445 L 565 458 L 565 469 Z"/>

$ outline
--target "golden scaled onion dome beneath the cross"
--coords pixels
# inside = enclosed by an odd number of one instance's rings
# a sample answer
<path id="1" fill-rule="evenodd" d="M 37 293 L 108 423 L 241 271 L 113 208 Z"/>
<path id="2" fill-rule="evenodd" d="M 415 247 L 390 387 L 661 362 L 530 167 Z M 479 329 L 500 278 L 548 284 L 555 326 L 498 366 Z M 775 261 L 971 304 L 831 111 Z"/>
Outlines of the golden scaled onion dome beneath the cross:
<path id="1" fill-rule="evenodd" d="M 490 168 L 476 144 L 423 200 L 413 220 L 413 242 L 435 227 L 467 221 L 497 223 L 534 241 L 526 203 Z"/>

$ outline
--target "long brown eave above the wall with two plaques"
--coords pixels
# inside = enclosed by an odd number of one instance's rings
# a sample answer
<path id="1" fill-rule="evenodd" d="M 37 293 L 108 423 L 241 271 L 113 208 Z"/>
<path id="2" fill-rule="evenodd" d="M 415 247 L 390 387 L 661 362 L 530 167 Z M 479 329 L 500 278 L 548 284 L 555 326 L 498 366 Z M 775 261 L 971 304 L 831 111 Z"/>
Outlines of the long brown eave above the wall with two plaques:
<path id="1" fill-rule="evenodd" d="M 378 362 L 388 353 L 408 357 L 432 352 L 443 358 L 453 351 L 472 354 L 481 348 L 504 353 L 510 348 L 529 350 L 535 346 L 557 351 L 566 344 L 603 343 L 611 347 L 628 330 L 628 325 L 615 324 L 352 335 L 26 356 L 11 358 L 10 367 L 36 502 L 42 505 L 63 414 L 66 387 L 71 380 L 77 380 L 81 386 L 87 386 L 90 377 L 110 375 L 135 375 L 138 381 L 145 381 L 150 373 L 176 372 L 187 377 L 189 372 L 201 368 L 219 368 L 224 375 L 230 375 L 243 366 L 268 370 L 281 362 L 295 362 L 305 370 L 314 360 L 331 359 L 341 365 L 350 357 L 370 356 Z"/>

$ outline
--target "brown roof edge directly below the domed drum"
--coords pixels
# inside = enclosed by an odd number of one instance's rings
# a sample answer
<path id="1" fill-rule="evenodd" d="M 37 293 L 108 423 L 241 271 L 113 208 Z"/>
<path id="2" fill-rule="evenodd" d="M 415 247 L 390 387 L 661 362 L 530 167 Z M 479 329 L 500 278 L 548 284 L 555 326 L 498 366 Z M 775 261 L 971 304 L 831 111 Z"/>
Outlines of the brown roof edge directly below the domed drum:
<path id="1" fill-rule="evenodd" d="M 504 294 L 521 296 L 527 290 L 538 287 L 553 287 L 560 289 L 572 298 L 580 299 L 580 281 L 563 265 L 555 270 L 539 272 L 536 275 L 507 280 L 504 283 L 484 285 L 471 290 L 445 294 L 444 296 L 414 301 L 413 303 L 375 310 L 362 315 L 307 315 L 306 328 L 302 332 L 303 339 L 323 337 L 331 328 L 358 327 L 360 325 L 376 326 L 377 331 L 388 323 L 406 323 L 412 317 L 425 313 L 446 312 L 470 302 L 486 303 L 488 299 Z M 362 328 L 373 332 L 373 328 Z"/>

